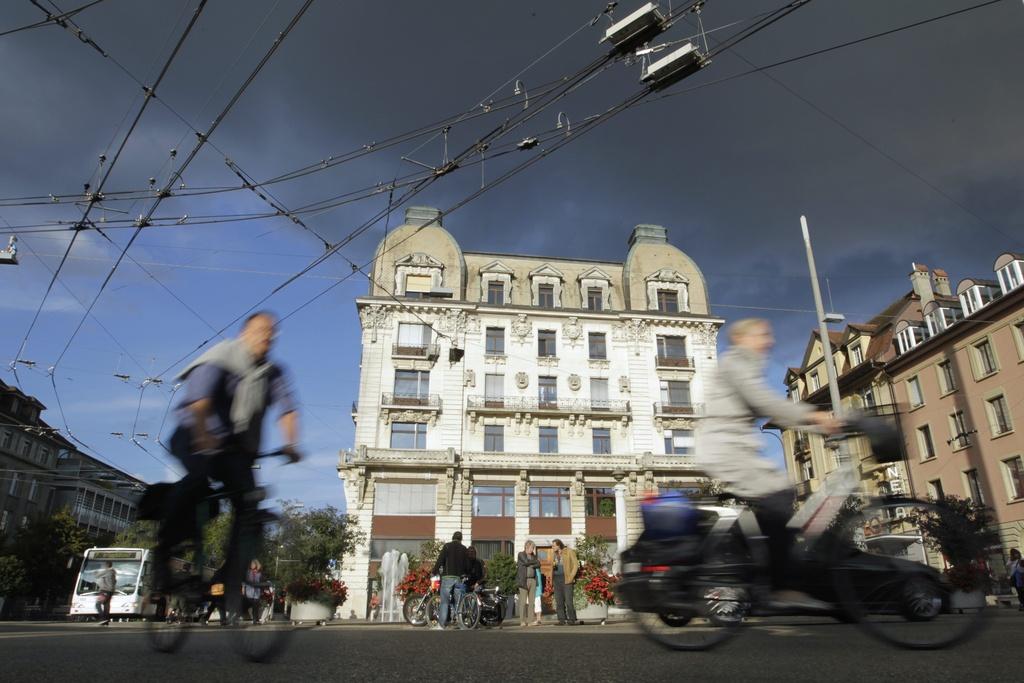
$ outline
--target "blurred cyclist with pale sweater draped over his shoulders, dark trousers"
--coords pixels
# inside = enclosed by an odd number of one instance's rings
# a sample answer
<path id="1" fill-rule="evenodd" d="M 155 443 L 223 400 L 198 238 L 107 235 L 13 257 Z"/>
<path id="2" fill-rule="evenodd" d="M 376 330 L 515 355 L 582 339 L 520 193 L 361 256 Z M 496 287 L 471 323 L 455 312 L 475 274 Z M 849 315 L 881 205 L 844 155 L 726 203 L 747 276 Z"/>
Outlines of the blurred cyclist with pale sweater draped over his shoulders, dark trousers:
<path id="1" fill-rule="evenodd" d="M 278 408 L 279 427 L 286 445 L 282 452 L 291 461 L 300 460 L 296 449 L 299 421 L 291 382 L 285 370 L 267 358 L 273 344 L 275 318 L 271 313 L 253 313 L 242 333 L 213 346 L 181 373 L 184 397 L 175 409 L 178 427 L 171 436 L 170 451 L 181 461 L 186 474 L 172 488 L 156 549 L 155 583 L 169 584 L 171 549 L 188 538 L 199 538 L 197 505 L 209 486 L 220 481 L 228 493 L 234 518 L 224 560 L 224 594 L 241 596 L 248 558 L 239 554 L 243 529 L 252 527 L 257 509 L 252 465 L 260 450 L 263 418 L 271 405 Z"/>

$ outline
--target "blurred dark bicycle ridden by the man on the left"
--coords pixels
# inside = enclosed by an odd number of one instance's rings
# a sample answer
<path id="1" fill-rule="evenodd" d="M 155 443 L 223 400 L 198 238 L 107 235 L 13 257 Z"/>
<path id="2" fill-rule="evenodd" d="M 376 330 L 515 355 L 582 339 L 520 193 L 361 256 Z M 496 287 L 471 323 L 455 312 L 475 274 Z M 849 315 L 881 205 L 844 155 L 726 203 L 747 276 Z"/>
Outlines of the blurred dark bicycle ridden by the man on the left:
<path id="1" fill-rule="evenodd" d="M 287 457 L 289 454 L 274 451 L 257 457 L 273 456 Z M 231 494 L 223 486 L 211 489 L 197 505 L 197 528 L 203 529 L 218 514 L 220 501 L 229 499 Z M 252 495 L 262 500 L 264 492 L 257 487 Z M 275 513 L 256 508 L 240 529 L 240 556 L 255 557 L 263 538 L 263 528 L 276 520 Z M 157 605 L 156 616 L 145 623 L 150 645 L 160 652 L 178 651 L 191 627 L 209 620 L 213 611 L 212 603 L 219 609 L 220 624 L 229 631 L 232 647 L 241 655 L 251 661 L 268 661 L 280 654 L 293 629 L 284 612 L 274 609 L 272 585 L 268 582 L 259 585 L 261 594 L 269 597 L 270 601 L 260 600 L 254 604 L 252 609 L 257 614 L 245 620 L 241 592 L 238 595 L 225 594 L 222 580 L 214 580 L 212 572 L 206 568 L 209 555 L 203 545 L 202 533 L 185 542 L 180 550 L 188 549 L 193 552 L 193 561 L 183 564 L 175 562 L 169 567 L 172 577 L 169 585 L 160 592 L 151 591 L 145 598 L 148 604 Z"/>

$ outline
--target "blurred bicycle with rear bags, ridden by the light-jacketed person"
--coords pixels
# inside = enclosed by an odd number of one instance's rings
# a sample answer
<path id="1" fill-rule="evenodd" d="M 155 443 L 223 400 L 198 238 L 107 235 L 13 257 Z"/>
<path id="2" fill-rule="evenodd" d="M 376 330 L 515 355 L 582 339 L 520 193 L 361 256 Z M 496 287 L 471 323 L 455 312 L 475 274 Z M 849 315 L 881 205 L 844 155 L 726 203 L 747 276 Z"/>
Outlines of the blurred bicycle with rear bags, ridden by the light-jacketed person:
<path id="1" fill-rule="evenodd" d="M 872 444 L 892 442 L 877 423 L 860 422 L 857 429 Z M 835 438 L 841 453 L 851 435 Z M 946 647 L 976 635 L 987 614 L 984 601 L 958 604 L 948 578 L 927 563 L 934 551 L 919 524 L 940 519 L 956 536 L 952 513 L 928 501 L 859 492 L 859 469 L 843 457 L 790 522 L 798 535 L 795 584 L 820 606 L 780 612 L 768 602 L 764 536 L 745 504 L 722 502 L 728 494 L 717 501 L 646 502 L 645 530 L 623 554 L 617 593 L 639 613 L 648 637 L 678 650 L 710 649 L 735 635 L 748 617 L 779 613 L 856 622 L 874 638 L 913 649 Z M 978 545 L 966 531 L 951 541 Z"/>

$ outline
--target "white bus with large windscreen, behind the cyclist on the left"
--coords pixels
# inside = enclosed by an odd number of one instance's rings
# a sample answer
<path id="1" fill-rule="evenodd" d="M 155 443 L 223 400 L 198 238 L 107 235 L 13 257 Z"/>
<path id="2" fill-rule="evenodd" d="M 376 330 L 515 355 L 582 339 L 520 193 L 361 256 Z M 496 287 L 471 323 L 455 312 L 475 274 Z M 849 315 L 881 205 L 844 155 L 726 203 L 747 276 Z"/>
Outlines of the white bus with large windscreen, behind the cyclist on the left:
<path id="1" fill-rule="evenodd" d="M 118 574 L 117 587 L 111 597 L 111 616 L 152 615 L 156 606 L 144 600 L 151 577 L 150 556 L 151 552 L 144 548 L 89 548 L 78 572 L 69 615 L 82 618 L 96 614 L 96 597 L 99 595 L 96 573 L 108 562 L 114 565 Z"/>

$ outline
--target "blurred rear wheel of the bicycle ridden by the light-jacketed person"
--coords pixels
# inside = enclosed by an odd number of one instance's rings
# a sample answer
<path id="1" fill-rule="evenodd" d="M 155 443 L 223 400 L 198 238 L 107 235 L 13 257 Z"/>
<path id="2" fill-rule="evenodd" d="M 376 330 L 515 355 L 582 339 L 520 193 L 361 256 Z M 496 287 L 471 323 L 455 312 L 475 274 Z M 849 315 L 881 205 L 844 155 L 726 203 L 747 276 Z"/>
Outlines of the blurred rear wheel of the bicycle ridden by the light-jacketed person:
<path id="1" fill-rule="evenodd" d="M 679 586 L 669 589 L 665 608 L 639 614 L 640 629 L 673 650 L 710 650 L 721 645 L 736 635 L 750 611 L 751 567 L 746 550 L 735 539 L 727 539 L 686 575 L 673 580 L 670 570 L 670 575 L 652 577 L 652 582 Z"/>

